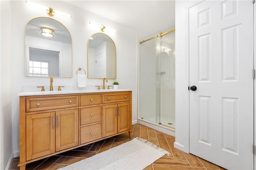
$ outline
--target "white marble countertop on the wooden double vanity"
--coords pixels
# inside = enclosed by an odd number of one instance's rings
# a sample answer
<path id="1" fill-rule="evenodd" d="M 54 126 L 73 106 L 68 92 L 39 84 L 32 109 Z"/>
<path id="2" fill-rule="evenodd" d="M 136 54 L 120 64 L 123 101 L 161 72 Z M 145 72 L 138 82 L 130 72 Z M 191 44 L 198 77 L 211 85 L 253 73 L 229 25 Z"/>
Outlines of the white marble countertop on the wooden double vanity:
<path id="1" fill-rule="evenodd" d="M 35 96 L 35 95 L 61 95 L 61 94 L 75 94 L 75 93 L 102 93 L 115 91 L 132 91 L 130 89 L 106 89 L 106 90 L 63 90 L 63 91 L 23 91 L 18 96 Z"/>

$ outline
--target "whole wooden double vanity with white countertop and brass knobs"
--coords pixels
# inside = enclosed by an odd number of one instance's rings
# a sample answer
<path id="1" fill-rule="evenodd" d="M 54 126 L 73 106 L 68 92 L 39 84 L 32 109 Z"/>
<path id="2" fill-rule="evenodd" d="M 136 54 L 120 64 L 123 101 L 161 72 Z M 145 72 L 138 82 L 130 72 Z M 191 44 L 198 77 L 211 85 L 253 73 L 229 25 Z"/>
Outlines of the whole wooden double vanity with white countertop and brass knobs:
<path id="1" fill-rule="evenodd" d="M 26 164 L 124 132 L 132 138 L 132 91 L 22 92 L 20 170 Z"/>

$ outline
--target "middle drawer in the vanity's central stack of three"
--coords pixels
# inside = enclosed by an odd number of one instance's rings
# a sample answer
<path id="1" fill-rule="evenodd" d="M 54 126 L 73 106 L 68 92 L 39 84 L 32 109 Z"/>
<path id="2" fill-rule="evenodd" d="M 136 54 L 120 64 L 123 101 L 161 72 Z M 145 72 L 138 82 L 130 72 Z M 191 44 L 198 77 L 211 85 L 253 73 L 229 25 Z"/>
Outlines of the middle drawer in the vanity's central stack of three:
<path id="1" fill-rule="evenodd" d="M 101 121 L 101 106 L 80 109 L 80 125 Z"/>

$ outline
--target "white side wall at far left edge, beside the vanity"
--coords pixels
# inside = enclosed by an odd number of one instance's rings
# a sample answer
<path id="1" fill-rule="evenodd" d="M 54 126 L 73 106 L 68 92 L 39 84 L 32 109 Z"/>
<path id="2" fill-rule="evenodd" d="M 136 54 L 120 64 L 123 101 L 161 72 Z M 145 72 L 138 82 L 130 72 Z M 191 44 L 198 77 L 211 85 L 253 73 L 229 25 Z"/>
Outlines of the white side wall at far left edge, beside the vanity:
<path id="1" fill-rule="evenodd" d="M 11 2 L 0 1 L 1 58 L 0 58 L 0 169 L 6 169 L 12 157 L 11 107 Z M 16 103 L 18 105 L 18 103 Z"/>

